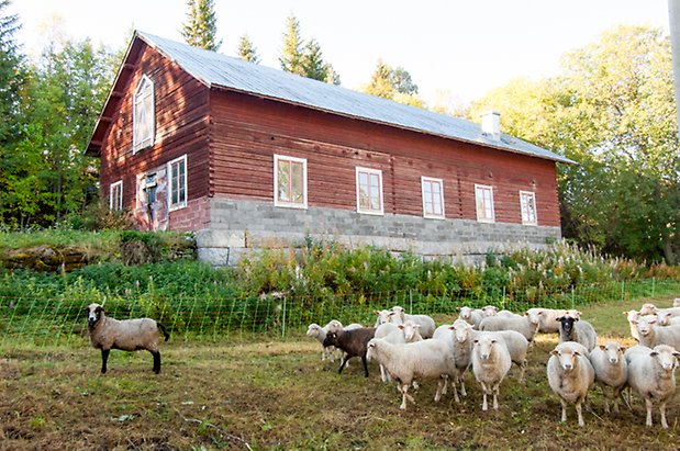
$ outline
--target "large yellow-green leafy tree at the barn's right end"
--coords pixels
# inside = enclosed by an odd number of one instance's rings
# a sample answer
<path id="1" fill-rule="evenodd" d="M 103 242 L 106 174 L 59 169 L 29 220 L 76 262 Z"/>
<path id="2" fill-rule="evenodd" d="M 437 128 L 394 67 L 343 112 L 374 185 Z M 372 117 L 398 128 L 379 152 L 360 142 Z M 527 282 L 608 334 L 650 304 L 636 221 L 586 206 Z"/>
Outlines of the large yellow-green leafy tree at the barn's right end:
<path id="1" fill-rule="evenodd" d="M 565 55 L 557 77 L 515 79 L 471 105 L 579 166 L 560 166 L 566 237 L 613 255 L 677 262 L 680 154 L 670 43 L 620 26 Z"/>

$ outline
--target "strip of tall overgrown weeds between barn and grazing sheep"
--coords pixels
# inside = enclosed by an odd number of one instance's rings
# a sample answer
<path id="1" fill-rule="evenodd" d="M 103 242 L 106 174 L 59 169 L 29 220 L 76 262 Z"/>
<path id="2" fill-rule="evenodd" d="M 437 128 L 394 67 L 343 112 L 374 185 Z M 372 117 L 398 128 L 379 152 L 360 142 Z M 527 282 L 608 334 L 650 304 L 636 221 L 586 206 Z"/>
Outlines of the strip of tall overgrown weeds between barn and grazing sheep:
<path id="1" fill-rule="evenodd" d="M 165 235 L 116 236 L 122 249 L 131 243 L 135 249 L 151 247 L 156 251 L 140 256 L 158 255 L 163 261 L 126 266 L 118 258 L 71 272 L 4 270 L 0 331 L 36 343 L 79 339 L 82 309 L 91 302 L 105 305 L 114 317 L 153 316 L 174 334 L 216 339 L 286 336 L 332 318 L 370 324 L 372 311 L 392 305 L 437 316 L 464 304 L 520 312 L 680 293 L 678 267 L 605 259 L 566 244 L 539 252 L 489 253 L 484 264 L 470 267 L 310 240 L 299 249 L 266 250 L 236 268 L 215 269 L 190 259 L 167 262 L 164 256 L 174 251 L 161 244 Z"/>

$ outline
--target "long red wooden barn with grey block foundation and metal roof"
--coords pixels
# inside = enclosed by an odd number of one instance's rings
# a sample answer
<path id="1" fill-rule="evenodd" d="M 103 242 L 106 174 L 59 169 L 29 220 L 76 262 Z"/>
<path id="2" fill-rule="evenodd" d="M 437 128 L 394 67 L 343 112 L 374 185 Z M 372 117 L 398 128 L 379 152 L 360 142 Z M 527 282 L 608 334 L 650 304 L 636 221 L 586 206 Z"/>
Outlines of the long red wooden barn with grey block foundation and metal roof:
<path id="1" fill-rule="evenodd" d="M 215 264 L 305 237 L 479 256 L 560 237 L 556 164 L 482 126 L 136 32 L 88 145 L 143 229 Z"/>

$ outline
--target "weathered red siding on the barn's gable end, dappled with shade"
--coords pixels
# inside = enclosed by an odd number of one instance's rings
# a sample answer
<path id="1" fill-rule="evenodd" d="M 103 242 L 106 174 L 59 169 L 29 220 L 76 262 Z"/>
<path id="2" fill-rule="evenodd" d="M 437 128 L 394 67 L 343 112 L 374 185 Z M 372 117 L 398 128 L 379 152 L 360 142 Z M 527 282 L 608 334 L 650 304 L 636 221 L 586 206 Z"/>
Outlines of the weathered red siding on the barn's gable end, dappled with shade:
<path id="1" fill-rule="evenodd" d="M 189 201 L 209 193 L 209 90 L 175 63 L 141 41 L 131 49 L 120 108 L 102 138 L 101 189 L 123 180 L 123 206 L 134 207 L 136 176 L 187 154 Z M 132 154 L 133 94 L 143 75 L 154 82 L 156 133 L 154 146 Z M 180 215 L 177 211 L 170 217 Z"/>

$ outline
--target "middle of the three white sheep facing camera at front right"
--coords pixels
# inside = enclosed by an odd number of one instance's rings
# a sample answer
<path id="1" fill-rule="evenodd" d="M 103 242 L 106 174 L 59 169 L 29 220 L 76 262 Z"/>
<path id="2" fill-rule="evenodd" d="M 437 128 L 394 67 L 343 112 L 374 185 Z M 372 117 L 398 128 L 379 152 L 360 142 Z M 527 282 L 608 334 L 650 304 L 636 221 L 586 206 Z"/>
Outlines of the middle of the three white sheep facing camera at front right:
<path id="1" fill-rule="evenodd" d="M 610 413 L 609 399 L 614 399 L 614 411 L 618 411 L 618 399 L 626 386 L 628 365 L 624 358 L 626 348 L 616 341 L 600 345 L 590 352 L 590 363 L 595 370 L 595 382 L 604 395 L 604 411 Z M 610 390 L 611 388 L 611 395 Z"/>

